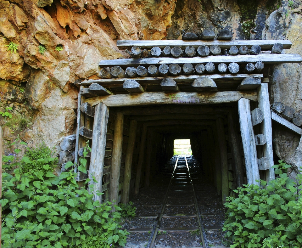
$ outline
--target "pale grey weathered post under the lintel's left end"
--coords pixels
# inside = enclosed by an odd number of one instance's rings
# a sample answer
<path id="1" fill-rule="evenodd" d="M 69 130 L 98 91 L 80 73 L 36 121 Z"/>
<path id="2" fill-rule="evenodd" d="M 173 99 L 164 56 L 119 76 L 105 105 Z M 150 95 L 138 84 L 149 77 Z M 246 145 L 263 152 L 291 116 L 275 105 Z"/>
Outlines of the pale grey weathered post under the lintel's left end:
<path id="1" fill-rule="evenodd" d="M 105 104 L 99 103 L 95 108 L 94 114 L 88 177 L 90 179 L 92 179 L 92 176 L 95 177 L 98 181 L 97 183 L 94 183 L 95 190 L 100 192 L 102 192 L 108 116 L 109 108 Z M 94 200 L 102 202 L 102 197 L 96 195 L 96 192 L 94 192 Z"/>

